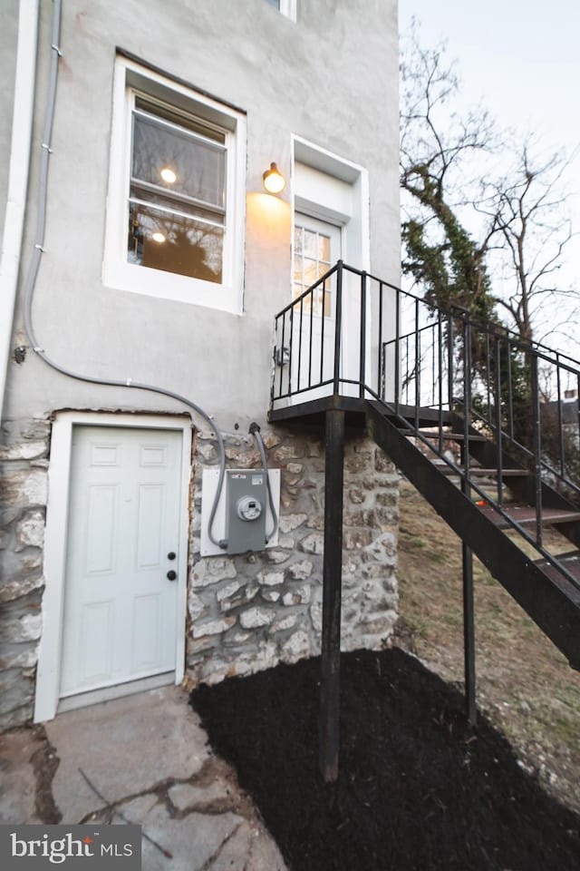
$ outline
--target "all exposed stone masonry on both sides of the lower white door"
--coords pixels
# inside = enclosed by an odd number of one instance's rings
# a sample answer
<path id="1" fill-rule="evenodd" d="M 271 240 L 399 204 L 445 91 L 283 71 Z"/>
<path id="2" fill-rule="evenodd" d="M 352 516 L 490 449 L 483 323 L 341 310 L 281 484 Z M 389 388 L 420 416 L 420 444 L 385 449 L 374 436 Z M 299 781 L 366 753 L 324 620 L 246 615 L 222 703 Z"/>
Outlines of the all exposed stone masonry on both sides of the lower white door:
<path id="1" fill-rule="evenodd" d="M 215 683 L 320 652 L 324 443 L 263 433 L 281 470 L 279 542 L 262 553 L 199 555 L 201 475 L 218 464 L 198 433 L 191 483 L 186 683 Z M 226 435 L 227 465 L 261 465 L 250 435 Z M 32 719 L 42 631 L 43 538 L 50 421 L 6 422 L 0 445 L 0 730 Z M 343 650 L 377 649 L 397 616 L 398 475 L 372 442 L 345 445 Z"/>

